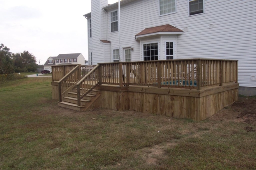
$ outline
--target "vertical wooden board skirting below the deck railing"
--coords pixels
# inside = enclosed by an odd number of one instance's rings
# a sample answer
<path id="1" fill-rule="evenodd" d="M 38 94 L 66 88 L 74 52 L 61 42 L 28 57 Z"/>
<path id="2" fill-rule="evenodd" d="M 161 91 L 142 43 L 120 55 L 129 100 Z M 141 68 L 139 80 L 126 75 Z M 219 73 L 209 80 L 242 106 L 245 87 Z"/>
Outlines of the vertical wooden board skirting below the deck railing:
<path id="1" fill-rule="evenodd" d="M 203 90 L 118 87 L 102 85 L 101 96 L 89 108 L 134 110 L 156 115 L 202 121 L 238 100 L 239 84 L 224 84 Z M 52 83 L 52 98 L 58 99 L 58 86 Z"/>

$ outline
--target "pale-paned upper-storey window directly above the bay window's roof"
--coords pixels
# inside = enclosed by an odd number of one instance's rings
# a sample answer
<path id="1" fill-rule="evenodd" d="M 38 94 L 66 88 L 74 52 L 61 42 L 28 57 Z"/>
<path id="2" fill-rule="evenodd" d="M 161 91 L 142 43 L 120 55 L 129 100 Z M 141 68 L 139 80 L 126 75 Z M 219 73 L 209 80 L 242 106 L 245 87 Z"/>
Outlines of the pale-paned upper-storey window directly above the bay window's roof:
<path id="1" fill-rule="evenodd" d="M 176 12 L 176 0 L 159 0 L 160 15 Z"/>

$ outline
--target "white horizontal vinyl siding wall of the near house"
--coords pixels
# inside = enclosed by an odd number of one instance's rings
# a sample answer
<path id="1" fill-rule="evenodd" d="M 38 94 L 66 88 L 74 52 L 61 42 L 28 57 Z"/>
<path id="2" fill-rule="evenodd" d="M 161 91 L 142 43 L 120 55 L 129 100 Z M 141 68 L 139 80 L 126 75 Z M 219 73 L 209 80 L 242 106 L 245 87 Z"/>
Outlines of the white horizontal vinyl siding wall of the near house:
<path id="1" fill-rule="evenodd" d="M 177 59 L 238 59 L 240 86 L 256 88 L 256 81 L 250 80 L 256 75 L 255 0 L 205 0 L 204 14 L 194 16 L 188 16 L 188 0 L 176 0 L 176 13 L 165 16 L 159 16 L 158 3 L 158 0 L 137 0 L 121 6 L 121 47 L 134 48 L 132 61 L 143 59 L 140 42 L 135 40 L 135 35 L 143 29 L 164 24 L 182 30 L 187 27 L 187 32 L 177 36 Z M 118 49 L 119 45 L 118 32 L 110 31 L 110 12 L 114 10 L 117 7 L 108 10 L 107 21 L 111 50 Z M 93 15 L 92 10 L 92 17 L 97 20 L 98 16 Z M 209 27 L 210 24 L 213 28 Z M 98 39 L 96 35 L 95 38 Z M 100 47 L 93 50 L 100 51 Z M 95 63 L 101 63 L 100 60 L 98 58 Z"/>

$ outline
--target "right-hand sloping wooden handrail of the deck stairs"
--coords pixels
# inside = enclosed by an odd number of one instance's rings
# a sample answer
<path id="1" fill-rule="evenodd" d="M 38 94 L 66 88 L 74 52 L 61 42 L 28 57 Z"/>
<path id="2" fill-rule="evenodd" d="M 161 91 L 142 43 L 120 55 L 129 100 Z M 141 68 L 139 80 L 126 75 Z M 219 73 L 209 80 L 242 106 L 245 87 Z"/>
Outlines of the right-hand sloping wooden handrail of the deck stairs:
<path id="1" fill-rule="evenodd" d="M 99 75 L 98 76 L 98 80 L 94 80 L 95 84 L 94 86 L 92 86 L 90 89 L 88 89 L 84 94 L 80 95 L 80 86 L 82 84 L 82 82 L 84 82 L 84 80 L 86 80 L 89 76 L 91 76 L 96 70 L 99 70 L 98 68 L 100 68 L 100 65 L 98 64 L 97 66 L 95 66 L 92 70 L 90 70 L 90 72 L 88 72 L 88 74 L 86 74 L 86 76 L 84 76 L 80 81 L 77 82 L 76 84 L 76 87 L 77 87 L 77 106 L 81 106 L 81 99 L 86 96 L 90 91 L 92 91 L 96 86 L 98 86 L 99 84 L 99 76 L 102 76 L 102 75 Z M 99 72 L 98 72 L 99 74 Z M 86 86 L 84 84 L 84 86 Z M 88 84 L 87 84 L 88 86 Z"/>

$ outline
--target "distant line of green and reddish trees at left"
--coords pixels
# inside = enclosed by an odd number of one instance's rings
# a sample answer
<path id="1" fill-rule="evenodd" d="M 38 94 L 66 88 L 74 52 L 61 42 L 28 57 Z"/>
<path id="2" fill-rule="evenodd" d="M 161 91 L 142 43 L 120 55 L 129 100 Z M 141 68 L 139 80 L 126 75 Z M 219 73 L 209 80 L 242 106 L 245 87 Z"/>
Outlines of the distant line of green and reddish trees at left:
<path id="1" fill-rule="evenodd" d="M 0 44 L 0 74 L 34 72 L 39 67 L 36 57 L 28 51 L 14 54 L 4 44 Z"/>

